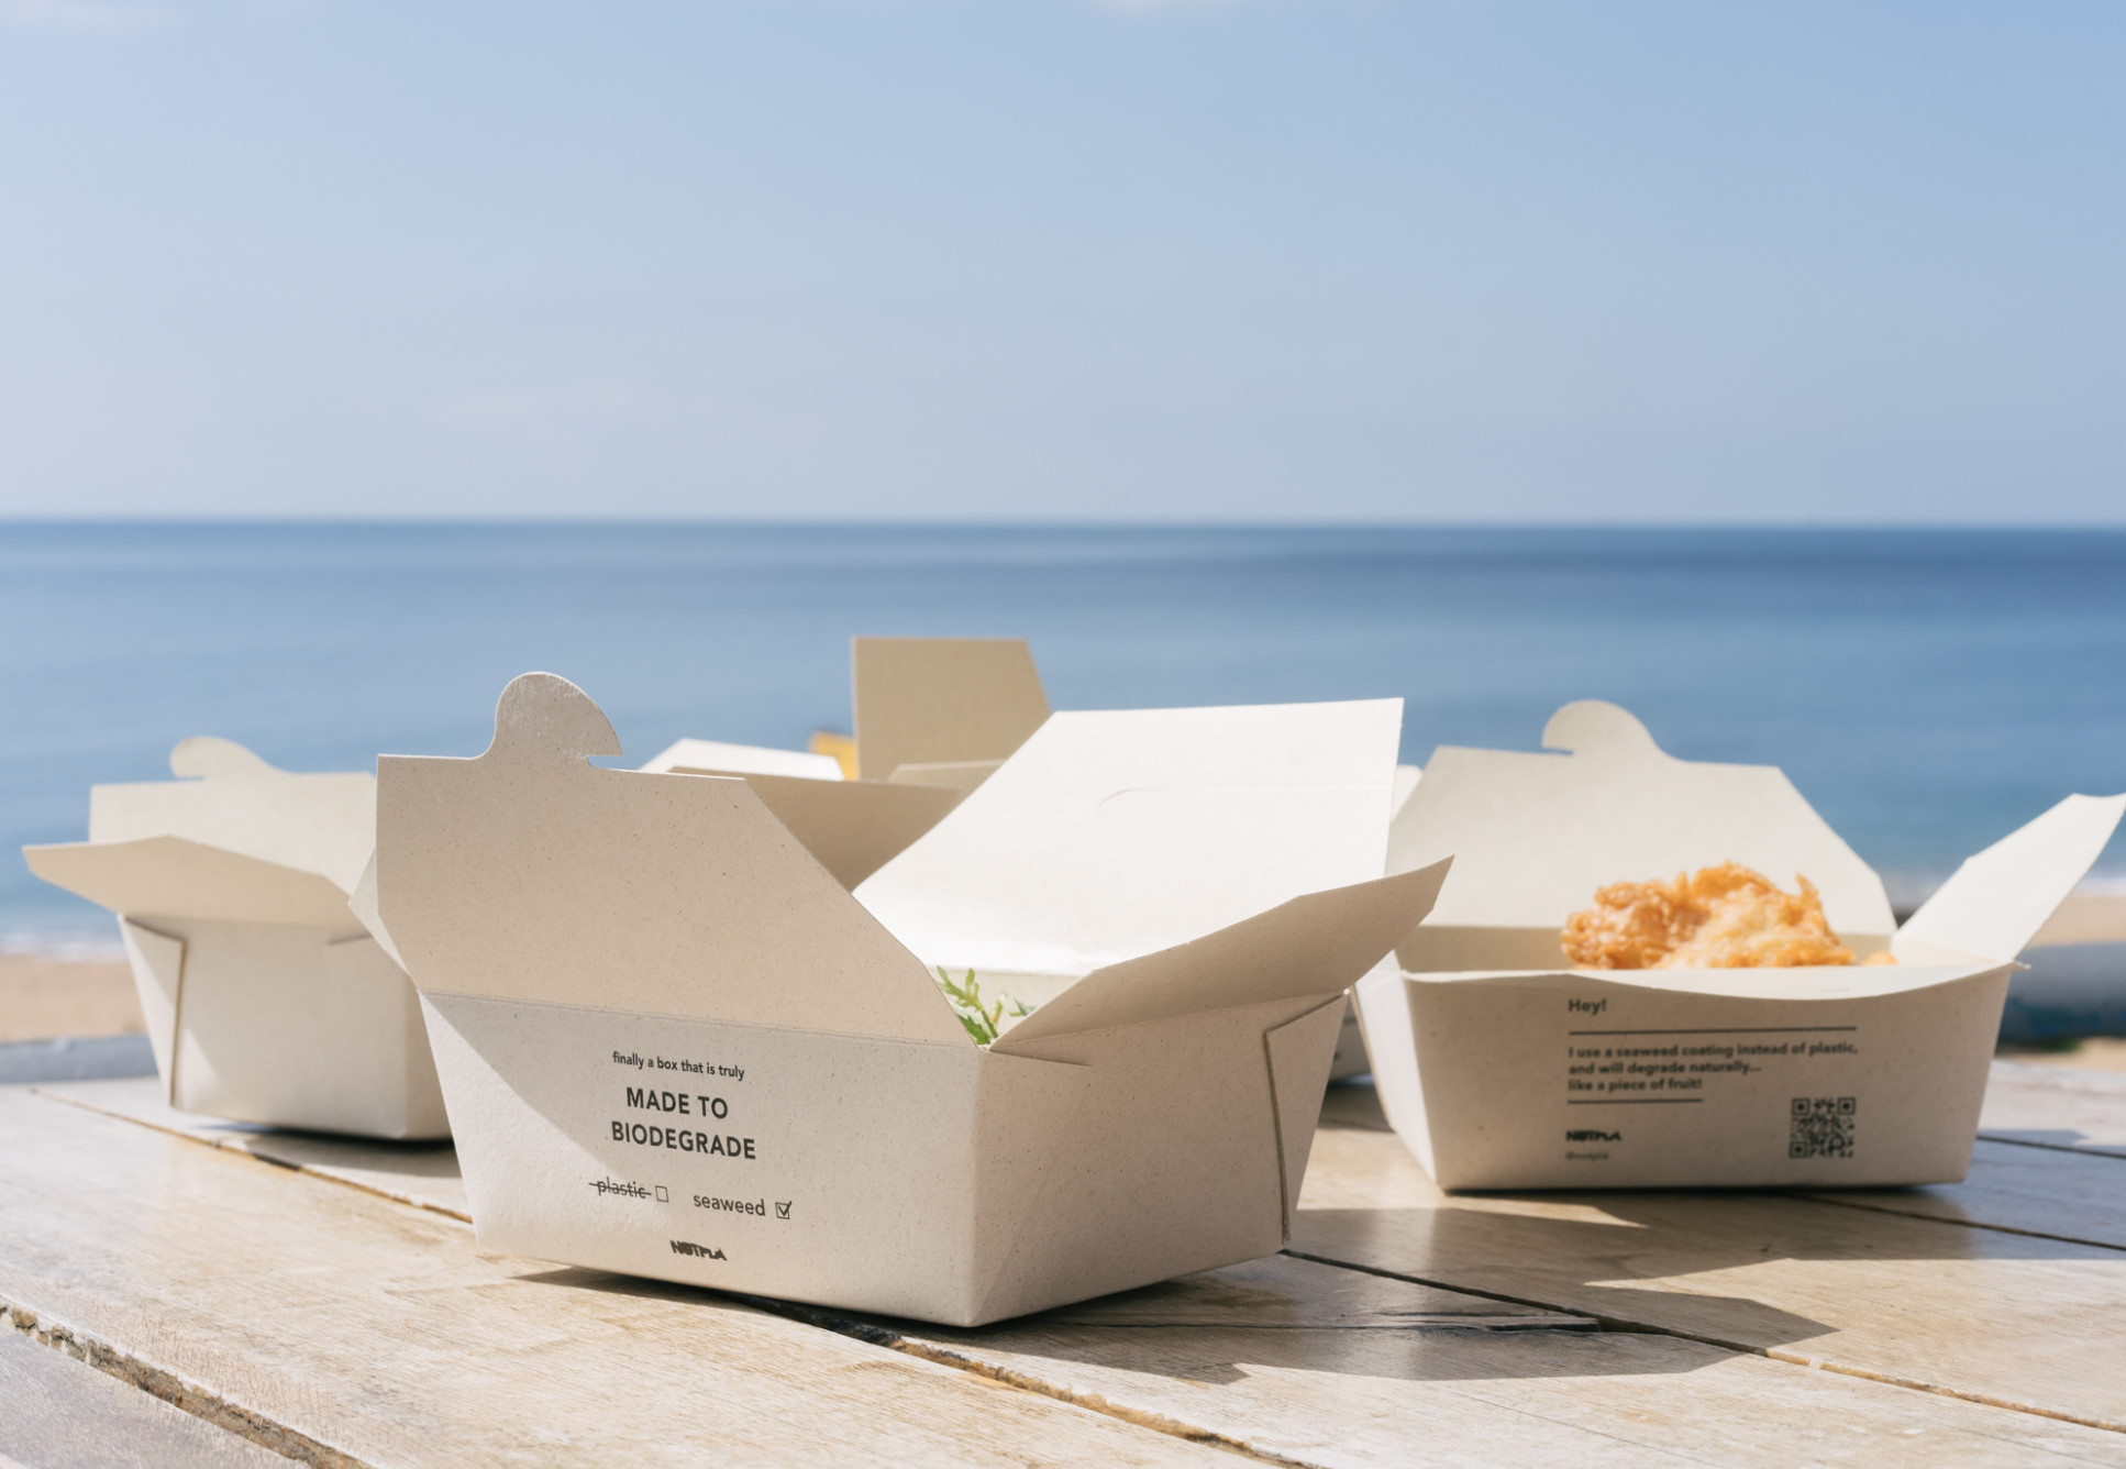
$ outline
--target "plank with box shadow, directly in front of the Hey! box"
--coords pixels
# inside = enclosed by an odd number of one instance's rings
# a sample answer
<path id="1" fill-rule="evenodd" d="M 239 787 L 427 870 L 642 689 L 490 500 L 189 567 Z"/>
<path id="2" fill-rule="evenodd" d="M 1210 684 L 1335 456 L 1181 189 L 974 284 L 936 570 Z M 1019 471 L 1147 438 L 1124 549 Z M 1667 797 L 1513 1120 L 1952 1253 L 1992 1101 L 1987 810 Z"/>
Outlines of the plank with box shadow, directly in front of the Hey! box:
<path id="1" fill-rule="evenodd" d="M 2115 1248 L 1782 1195 L 1448 1197 L 1393 1133 L 1339 1127 L 1293 1250 L 2126 1429 L 2092 1350 L 2126 1320 Z"/>

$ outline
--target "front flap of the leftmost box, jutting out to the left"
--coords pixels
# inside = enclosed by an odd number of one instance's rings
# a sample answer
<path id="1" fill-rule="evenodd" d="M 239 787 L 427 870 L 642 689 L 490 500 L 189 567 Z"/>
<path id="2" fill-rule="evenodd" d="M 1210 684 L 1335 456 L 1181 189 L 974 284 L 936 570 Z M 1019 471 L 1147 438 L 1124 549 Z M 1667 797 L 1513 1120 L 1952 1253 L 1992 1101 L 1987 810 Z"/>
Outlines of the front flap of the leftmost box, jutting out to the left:
<path id="1" fill-rule="evenodd" d="M 315 872 L 174 835 L 26 846 L 30 872 L 128 918 L 353 929 L 347 893 Z"/>

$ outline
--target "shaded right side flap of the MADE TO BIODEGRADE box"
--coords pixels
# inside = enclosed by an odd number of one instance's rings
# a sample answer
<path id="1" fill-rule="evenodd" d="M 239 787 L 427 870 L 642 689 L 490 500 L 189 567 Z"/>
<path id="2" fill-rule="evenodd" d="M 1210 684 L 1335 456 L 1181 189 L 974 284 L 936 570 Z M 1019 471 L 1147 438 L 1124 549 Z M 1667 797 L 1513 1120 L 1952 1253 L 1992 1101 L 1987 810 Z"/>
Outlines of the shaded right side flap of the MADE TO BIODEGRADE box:
<path id="1" fill-rule="evenodd" d="M 991 1050 L 1031 1054 L 1059 1035 L 1342 993 L 1424 918 L 1448 865 L 1293 897 L 1216 933 L 1095 969 Z"/>

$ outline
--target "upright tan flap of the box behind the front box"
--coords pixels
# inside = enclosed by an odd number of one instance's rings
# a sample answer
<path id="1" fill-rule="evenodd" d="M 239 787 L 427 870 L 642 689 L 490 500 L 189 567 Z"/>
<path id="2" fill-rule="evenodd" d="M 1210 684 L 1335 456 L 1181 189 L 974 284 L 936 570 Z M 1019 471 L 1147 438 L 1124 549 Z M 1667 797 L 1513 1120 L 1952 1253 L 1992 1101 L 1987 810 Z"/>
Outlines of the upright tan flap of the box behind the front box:
<path id="1" fill-rule="evenodd" d="M 857 774 L 1003 759 L 1048 719 L 1020 638 L 857 638 L 850 644 Z"/>

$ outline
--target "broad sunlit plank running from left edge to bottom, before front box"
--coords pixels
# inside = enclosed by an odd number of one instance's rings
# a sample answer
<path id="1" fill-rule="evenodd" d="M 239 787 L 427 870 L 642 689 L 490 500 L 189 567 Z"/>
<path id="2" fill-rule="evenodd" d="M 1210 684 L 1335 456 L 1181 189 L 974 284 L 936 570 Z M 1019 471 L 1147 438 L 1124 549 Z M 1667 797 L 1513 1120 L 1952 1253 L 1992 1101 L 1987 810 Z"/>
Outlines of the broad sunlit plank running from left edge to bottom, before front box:
<path id="1" fill-rule="evenodd" d="M 0 1091 L 0 1301 L 202 1414 L 368 1465 L 1227 1463 L 702 1290 Z"/>

